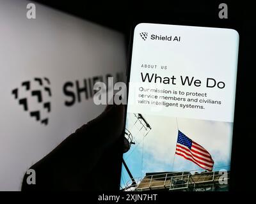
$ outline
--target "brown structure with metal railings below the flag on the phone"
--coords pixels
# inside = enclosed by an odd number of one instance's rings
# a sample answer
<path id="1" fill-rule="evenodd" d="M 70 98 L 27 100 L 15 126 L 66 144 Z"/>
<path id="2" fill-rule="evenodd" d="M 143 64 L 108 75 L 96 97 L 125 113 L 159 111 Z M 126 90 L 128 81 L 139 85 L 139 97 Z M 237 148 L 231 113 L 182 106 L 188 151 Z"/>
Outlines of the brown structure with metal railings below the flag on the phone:
<path id="1" fill-rule="evenodd" d="M 230 171 L 146 173 L 129 180 L 124 191 L 227 191 Z"/>

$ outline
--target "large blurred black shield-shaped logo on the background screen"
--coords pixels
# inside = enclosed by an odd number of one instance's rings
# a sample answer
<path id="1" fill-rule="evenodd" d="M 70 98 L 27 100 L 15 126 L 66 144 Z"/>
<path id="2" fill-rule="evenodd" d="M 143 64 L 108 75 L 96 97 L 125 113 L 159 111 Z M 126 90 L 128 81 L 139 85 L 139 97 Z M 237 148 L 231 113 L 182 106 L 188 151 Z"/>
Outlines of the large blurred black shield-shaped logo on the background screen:
<path id="1" fill-rule="evenodd" d="M 48 78 L 27 80 L 12 90 L 12 95 L 29 116 L 47 126 L 51 112 L 51 82 Z"/>

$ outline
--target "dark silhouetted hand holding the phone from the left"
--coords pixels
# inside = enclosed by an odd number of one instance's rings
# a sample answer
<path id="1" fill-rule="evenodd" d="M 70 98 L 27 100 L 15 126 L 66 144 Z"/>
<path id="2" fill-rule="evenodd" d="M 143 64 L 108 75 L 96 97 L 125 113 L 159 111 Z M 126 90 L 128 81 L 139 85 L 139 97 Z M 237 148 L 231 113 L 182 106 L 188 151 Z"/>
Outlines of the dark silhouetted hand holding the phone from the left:
<path id="1" fill-rule="evenodd" d="M 27 184 L 25 175 L 22 191 L 118 190 L 123 128 L 124 105 L 108 105 L 31 166 L 36 184 Z"/>

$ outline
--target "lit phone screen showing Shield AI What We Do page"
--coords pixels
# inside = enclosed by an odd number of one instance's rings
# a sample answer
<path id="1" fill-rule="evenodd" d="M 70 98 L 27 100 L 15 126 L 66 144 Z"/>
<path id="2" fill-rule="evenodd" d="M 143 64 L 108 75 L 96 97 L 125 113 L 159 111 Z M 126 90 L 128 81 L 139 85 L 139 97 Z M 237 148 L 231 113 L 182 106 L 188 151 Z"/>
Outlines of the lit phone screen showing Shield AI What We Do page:
<path id="1" fill-rule="evenodd" d="M 124 191 L 228 191 L 239 34 L 134 27 L 125 120 Z"/>

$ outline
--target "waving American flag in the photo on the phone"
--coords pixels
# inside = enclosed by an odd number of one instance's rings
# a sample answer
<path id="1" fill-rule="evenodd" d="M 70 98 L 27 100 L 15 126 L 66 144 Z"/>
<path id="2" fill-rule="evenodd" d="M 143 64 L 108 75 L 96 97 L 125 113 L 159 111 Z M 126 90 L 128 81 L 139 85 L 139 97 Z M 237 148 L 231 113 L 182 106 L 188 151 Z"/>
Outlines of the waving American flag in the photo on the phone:
<path id="1" fill-rule="evenodd" d="M 175 154 L 192 161 L 207 171 L 212 171 L 214 161 L 211 154 L 201 145 L 179 131 Z"/>

